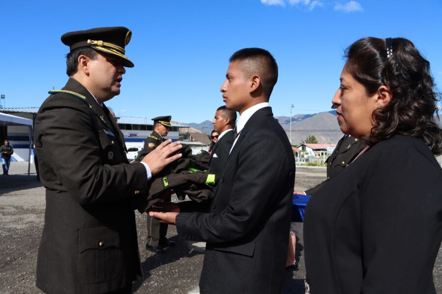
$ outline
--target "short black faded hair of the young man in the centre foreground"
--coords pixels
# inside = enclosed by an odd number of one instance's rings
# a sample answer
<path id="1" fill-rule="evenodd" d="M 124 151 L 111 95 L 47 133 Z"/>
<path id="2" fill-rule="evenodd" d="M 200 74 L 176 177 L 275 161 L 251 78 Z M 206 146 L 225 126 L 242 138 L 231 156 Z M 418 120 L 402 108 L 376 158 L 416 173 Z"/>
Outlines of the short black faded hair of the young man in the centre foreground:
<path id="1" fill-rule="evenodd" d="M 272 54 L 261 48 L 244 48 L 233 53 L 229 62 L 233 61 L 241 61 L 240 68 L 246 78 L 259 75 L 264 94 L 270 98 L 278 80 L 278 65 Z"/>

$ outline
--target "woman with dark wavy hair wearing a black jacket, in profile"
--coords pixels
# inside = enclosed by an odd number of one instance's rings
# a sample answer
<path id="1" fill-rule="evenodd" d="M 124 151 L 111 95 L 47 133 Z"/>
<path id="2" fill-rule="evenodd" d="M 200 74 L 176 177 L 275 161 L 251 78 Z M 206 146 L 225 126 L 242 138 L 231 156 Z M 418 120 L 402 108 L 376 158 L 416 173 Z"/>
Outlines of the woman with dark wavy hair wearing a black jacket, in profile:
<path id="1" fill-rule="evenodd" d="M 442 130 L 429 62 L 402 38 L 360 39 L 346 57 L 332 102 L 367 147 L 308 202 L 307 291 L 436 293 Z"/>

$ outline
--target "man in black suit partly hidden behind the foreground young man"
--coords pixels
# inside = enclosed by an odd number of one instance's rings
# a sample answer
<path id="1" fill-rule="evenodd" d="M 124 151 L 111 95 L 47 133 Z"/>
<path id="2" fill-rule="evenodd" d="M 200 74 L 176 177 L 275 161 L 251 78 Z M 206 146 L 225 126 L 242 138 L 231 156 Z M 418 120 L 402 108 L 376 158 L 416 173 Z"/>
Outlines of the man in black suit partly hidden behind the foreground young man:
<path id="1" fill-rule="evenodd" d="M 209 171 L 216 174 L 217 178 L 221 177 L 230 149 L 232 148 L 235 122 L 236 111 L 229 110 L 224 105 L 218 107 L 212 123 L 213 128 L 220 136 L 212 149 L 209 160 Z"/>

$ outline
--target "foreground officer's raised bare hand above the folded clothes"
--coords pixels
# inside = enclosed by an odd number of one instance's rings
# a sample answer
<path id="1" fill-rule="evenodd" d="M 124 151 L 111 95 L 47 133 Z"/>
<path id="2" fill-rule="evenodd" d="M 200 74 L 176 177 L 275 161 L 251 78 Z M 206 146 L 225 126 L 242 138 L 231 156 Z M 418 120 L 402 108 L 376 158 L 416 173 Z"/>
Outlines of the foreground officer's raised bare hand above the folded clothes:
<path id="1" fill-rule="evenodd" d="M 182 156 L 181 153 L 172 155 L 182 147 L 183 146 L 181 145 L 180 141 L 172 143 L 172 140 L 166 140 L 158 145 L 155 150 L 144 156 L 143 160 L 141 161 L 147 163 L 150 168 L 150 172 L 152 173 L 152 175 L 155 175 L 161 172 L 166 167 L 166 165 L 174 162 Z"/>

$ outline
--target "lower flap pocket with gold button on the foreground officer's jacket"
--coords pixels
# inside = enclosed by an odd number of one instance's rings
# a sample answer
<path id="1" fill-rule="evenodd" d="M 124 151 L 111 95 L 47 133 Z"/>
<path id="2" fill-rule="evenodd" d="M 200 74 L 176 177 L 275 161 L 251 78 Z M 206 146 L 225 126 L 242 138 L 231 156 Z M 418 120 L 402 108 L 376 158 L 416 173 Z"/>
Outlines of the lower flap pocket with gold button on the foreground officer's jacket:
<path id="1" fill-rule="evenodd" d="M 117 232 L 106 227 L 79 230 L 77 276 L 82 284 L 117 278 L 123 267 L 121 259 Z"/>

